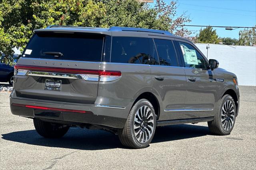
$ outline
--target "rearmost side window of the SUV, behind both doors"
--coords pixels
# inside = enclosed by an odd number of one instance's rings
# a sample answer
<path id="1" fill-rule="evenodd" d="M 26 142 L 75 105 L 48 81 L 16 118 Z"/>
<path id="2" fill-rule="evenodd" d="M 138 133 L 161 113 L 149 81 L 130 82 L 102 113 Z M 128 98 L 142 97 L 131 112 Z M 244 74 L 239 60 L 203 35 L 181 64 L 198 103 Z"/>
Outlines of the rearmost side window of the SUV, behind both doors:
<path id="1" fill-rule="evenodd" d="M 112 63 L 150 64 L 152 43 L 149 38 L 112 37 Z"/>

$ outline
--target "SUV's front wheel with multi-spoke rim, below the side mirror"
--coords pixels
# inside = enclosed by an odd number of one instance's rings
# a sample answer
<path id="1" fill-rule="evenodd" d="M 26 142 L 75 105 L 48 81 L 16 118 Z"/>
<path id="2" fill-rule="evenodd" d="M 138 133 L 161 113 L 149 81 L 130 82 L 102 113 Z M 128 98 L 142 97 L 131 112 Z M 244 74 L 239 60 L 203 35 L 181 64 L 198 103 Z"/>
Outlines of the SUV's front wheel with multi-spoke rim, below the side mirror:
<path id="1" fill-rule="evenodd" d="M 217 135 L 228 135 L 236 121 L 236 105 L 230 95 L 224 95 L 215 113 L 214 121 L 208 122 L 210 132 Z M 225 126 L 226 125 L 226 126 Z"/>

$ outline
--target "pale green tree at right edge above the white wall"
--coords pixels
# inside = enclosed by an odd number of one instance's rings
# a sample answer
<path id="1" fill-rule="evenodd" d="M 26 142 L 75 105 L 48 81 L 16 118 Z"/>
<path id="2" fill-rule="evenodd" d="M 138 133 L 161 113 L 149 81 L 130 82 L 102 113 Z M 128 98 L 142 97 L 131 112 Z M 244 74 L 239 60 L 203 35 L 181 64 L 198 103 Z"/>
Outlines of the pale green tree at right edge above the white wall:
<path id="1" fill-rule="evenodd" d="M 256 26 L 255 26 L 256 27 Z M 256 29 L 244 29 L 239 32 L 238 45 L 255 45 L 256 44 Z"/>

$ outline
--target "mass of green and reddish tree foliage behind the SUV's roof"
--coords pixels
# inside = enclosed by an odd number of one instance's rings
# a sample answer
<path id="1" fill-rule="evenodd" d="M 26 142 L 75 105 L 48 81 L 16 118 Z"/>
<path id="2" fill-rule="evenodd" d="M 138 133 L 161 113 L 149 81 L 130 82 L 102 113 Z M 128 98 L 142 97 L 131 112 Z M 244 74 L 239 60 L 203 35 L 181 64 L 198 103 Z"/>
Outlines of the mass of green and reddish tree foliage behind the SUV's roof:
<path id="1" fill-rule="evenodd" d="M 151 28 L 188 36 L 190 31 L 178 25 L 190 19 L 185 13 L 177 16 L 176 3 L 156 0 L 150 7 L 138 0 L 2 0 L 0 54 L 12 56 L 14 47 L 23 51 L 33 30 L 49 25 Z"/>

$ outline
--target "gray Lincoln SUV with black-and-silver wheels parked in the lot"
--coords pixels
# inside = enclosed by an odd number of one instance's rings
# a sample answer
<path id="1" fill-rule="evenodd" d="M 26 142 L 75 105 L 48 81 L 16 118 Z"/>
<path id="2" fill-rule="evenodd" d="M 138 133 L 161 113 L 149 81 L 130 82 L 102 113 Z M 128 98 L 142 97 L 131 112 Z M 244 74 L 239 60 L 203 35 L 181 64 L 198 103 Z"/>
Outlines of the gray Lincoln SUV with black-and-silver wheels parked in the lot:
<path id="1" fill-rule="evenodd" d="M 208 122 L 230 134 L 239 109 L 235 74 L 189 40 L 142 28 L 49 26 L 15 65 L 12 114 L 59 138 L 69 127 L 118 134 L 144 148 L 156 127 Z"/>

